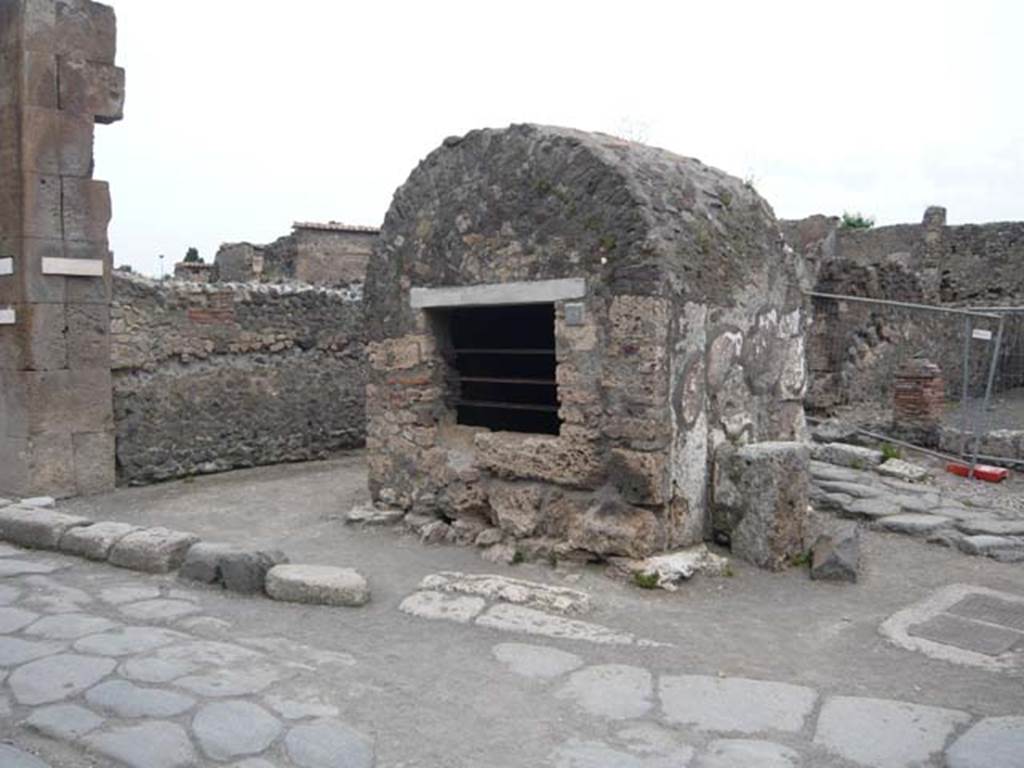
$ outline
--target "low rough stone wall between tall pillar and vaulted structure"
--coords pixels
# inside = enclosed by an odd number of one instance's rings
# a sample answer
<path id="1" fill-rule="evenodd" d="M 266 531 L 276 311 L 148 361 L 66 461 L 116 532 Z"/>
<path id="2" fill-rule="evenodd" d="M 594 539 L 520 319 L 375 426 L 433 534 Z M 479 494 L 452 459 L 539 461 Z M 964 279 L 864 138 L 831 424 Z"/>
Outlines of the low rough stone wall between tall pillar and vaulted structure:
<path id="1" fill-rule="evenodd" d="M 365 441 L 361 287 L 157 283 L 112 306 L 120 482 L 319 459 Z"/>

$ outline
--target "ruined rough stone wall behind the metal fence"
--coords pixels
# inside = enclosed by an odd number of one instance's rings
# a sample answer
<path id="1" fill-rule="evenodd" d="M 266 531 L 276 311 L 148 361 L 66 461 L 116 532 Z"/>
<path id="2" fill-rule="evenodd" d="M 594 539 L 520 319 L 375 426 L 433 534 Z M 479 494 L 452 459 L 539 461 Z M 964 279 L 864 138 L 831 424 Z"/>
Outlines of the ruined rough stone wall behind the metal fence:
<path id="1" fill-rule="evenodd" d="M 933 207 L 920 224 L 847 229 L 837 218 L 812 216 L 782 227 L 823 293 L 952 307 L 1024 304 L 1024 222 L 949 226 L 945 219 L 945 209 Z M 963 318 L 949 314 L 817 300 L 807 404 L 818 413 L 851 403 L 888 406 L 900 359 L 914 354 L 938 364 L 947 394 L 959 397 L 963 329 Z M 972 395 L 984 388 L 990 347 L 972 348 Z M 1024 335 L 1008 336 L 1000 358 L 1008 372 L 1010 360 L 1024 358 Z M 997 389 L 1021 385 L 1019 377 L 996 378 Z"/>

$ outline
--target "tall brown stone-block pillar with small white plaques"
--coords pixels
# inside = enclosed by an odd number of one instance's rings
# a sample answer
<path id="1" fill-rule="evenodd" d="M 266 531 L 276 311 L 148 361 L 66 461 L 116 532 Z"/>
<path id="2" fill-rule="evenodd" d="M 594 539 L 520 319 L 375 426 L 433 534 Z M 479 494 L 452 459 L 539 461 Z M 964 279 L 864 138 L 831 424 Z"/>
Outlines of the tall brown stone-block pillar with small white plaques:
<path id="1" fill-rule="evenodd" d="M 88 0 L 0 0 L 0 495 L 114 485 L 106 183 L 120 120 L 115 17 Z"/>

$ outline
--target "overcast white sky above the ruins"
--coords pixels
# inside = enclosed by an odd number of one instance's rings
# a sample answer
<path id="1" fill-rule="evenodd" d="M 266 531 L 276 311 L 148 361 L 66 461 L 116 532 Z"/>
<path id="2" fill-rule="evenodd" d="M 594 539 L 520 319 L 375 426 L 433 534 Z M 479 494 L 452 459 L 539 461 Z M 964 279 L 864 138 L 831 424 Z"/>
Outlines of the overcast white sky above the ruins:
<path id="1" fill-rule="evenodd" d="M 599 130 L 753 177 L 780 217 L 1024 219 L 1024 3 L 105 0 L 119 264 L 379 224 L 447 135 Z"/>

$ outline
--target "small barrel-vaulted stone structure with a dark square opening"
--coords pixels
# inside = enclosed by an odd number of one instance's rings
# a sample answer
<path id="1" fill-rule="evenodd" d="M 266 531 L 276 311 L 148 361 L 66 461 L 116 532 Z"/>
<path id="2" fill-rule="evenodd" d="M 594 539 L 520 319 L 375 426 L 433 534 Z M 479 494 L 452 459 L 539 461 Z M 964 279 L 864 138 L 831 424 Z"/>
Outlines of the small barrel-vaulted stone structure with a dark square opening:
<path id="1" fill-rule="evenodd" d="M 535 125 L 451 138 L 368 272 L 375 500 L 529 551 L 702 540 L 712 457 L 802 430 L 798 264 L 702 163 Z"/>

